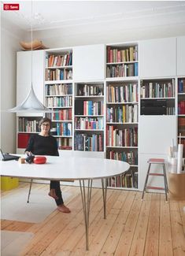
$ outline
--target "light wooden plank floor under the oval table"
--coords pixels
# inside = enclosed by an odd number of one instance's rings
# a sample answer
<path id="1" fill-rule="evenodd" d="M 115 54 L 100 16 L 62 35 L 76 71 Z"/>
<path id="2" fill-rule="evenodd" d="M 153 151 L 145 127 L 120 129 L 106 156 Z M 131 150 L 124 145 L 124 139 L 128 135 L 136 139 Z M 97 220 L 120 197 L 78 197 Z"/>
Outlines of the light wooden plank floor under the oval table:
<path id="1" fill-rule="evenodd" d="M 33 184 L 45 190 L 48 185 Z M 21 183 L 16 190 L 28 190 Z M 80 187 L 62 187 L 72 213 L 55 210 L 42 223 L 1 221 L 1 229 L 32 232 L 33 239 L 21 255 L 185 255 L 185 201 L 165 202 L 162 194 L 108 190 L 107 218 L 103 219 L 102 190 L 93 189 L 89 228 L 90 250 L 85 250 L 85 229 Z M 4 191 L 1 196 L 13 194 Z"/>

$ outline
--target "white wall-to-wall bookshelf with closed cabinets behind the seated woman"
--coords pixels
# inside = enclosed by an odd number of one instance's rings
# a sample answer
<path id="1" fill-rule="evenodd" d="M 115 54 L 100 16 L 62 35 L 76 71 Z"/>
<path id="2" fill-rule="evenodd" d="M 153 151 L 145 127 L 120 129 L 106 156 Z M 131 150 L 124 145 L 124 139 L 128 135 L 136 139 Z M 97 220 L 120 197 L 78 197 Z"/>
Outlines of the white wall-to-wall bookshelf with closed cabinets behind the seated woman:
<path id="1" fill-rule="evenodd" d="M 142 40 L 139 42 L 131 43 L 109 43 L 107 45 L 91 45 L 91 46 L 75 46 L 75 47 L 65 47 L 49 50 L 38 50 L 34 51 L 34 65 L 33 73 L 37 80 L 34 80 L 34 89 L 36 95 L 39 97 L 41 102 L 46 102 L 48 99 L 50 101 L 56 100 L 56 98 L 71 98 L 70 105 L 65 104 L 65 106 L 55 106 L 51 105 L 50 109 L 54 111 L 71 111 L 71 119 L 56 119 L 51 117 L 53 121 L 53 126 L 69 124 L 72 127 L 72 132 L 70 135 L 56 135 L 57 139 L 65 141 L 66 144 L 70 144 L 72 150 L 59 150 L 60 155 L 63 157 L 70 157 L 71 155 L 76 155 L 80 157 L 94 157 L 94 158 L 109 158 L 109 152 L 112 150 L 116 151 L 118 154 L 125 152 L 128 154 L 131 151 L 137 154 L 137 164 L 131 163 L 131 169 L 134 169 L 135 173 L 138 171 L 138 189 L 142 190 L 143 183 L 146 176 L 147 169 L 147 158 L 158 157 L 166 158 L 168 155 L 168 147 L 171 145 L 172 139 L 178 139 L 178 129 L 177 120 L 178 117 L 185 117 L 185 113 L 178 113 L 178 102 L 179 100 L 184 100 L 185 92 L 179 92 L 177 90 L 177 85 L 179 79 L 185 77 L 184 70 L 184 36 L 178 38 L 166 38 L 166 39 L 150 39 Z M 110 47 L 112 50 L 128 50 L 130 47 L 136 47 L 137 58 L 135 60 L 124 60 L 124 61 L 109 61 L 107 58 L 107 49 Z M 133 50 L 133 49 L 132 49 Z M 132 52 L 131 50 L 131 52 Z M 65 55 L 72 53 L 72 65 L 46 65 L 46 59 L 50 55 Z M 19 52 L 17 53 L 17 104 L 20 103 L 27 95 L 31 75 L 29 74 L 29 64 L 31 61 L 31 52 Z M 30 62 L 31 63 L 31 62 Z M 69 63 L 70 64 L 70 63 Z M 107 77 L 107 68 L 110 67 L 127 67 L 129 65 L 138 66 L 137 72 L 134 73 L 135 76 L 131 75 L 131 70 L 129 76 L 116 76 Z M 66 76 L 64 79 L 57 79 L 54 77 L 52 80 L 45 79 L 46 73 L 56 72 L 56 70 L 63 70 L 65 72 L 71 71 L 72 76 Z M 126 69 L 126 68 L 124 68 Z M 49 70 L 49 71 L 48 71 Z M 59 72 L 59 71 L 57 71 Z M 68 79 L 66 79 L 68 78 Z M 141 97 L 142 84 L 147 81 L 173 81 L 175 84 L 175 95 L 168 97 Z M 46 87 L 68 87 L 68 84 L 72 86 L 72 92 L 69 93 L 59 93 L 55 92 L 50 95 L 46 93 Z M 102 86 L 102 95 L 79 95 L 78 87 L 82 87 L 87 84 L 94 87 L 96 84 Z M 126 87 L 128 84 L 137 84 L 137 94 L 138 97 L 135 100 L 121 100 L 113 101 L 107 98 L 107 88 L 112 87 Z M 90 90 L 91 91 L 91 90 Z M 165 100 L 168 106 L 174 106 L 174 113 L 172 115 L 142 115 L 141 106 L 143 101 L 154 101 L 154 100 Z M 76 106 L 80 105 L 83 109 L 83 102 L 104 102 L 104 113 L 83 113 L 76 111 Z M 138 120 L 124 120 L 117 121 L 107 120 L 107 109 L 123 109 L 137 106 Z M 120 111 L 120 110 L 119 110 Z M 43 117 L 43 113 L 24 113 L 20 117 L 30 118 L 35 120 Z M 18 129 L 18 119 L 17 117 L 17 137 L 18 134 L 31 135 L 32 132 L 19 131 Z M 102 119 L 102 128 L 76 128 L 76 118 L 78 120 L 92 121 L 93 119 Z M 185 119 L 185 118 L 184 118 Z M 124 130 L 129 128 L 138 129 L 138 144 L 119 146 L 117 144 L 107 143 L 106 130 L 110 126 L 117 130 Z M 76 135 L 102 135 L 102 151 L 86 151 L 75 149 L 75 137 Z M 165 134 L 165 136 L 164 136 Z M 182 136 L 182 139 L 185 135 Z M 17 147 L 17 154 L 23 153 L 24 148 Z M 115 188 L 115 187 L 113 187 Z M 136 189 L 134 187 L 127 189 Z"/>

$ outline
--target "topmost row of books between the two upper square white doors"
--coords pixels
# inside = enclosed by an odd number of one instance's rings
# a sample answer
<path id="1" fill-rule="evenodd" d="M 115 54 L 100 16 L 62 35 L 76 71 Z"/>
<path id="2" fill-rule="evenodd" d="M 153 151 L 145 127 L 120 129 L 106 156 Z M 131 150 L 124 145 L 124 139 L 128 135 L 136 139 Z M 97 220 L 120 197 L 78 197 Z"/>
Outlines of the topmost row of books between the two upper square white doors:
<path id="1" fill-rule="evenodd" d="M 138 61 L 138 46 L 115 48 L 107 46 L 107 62 Z"/>

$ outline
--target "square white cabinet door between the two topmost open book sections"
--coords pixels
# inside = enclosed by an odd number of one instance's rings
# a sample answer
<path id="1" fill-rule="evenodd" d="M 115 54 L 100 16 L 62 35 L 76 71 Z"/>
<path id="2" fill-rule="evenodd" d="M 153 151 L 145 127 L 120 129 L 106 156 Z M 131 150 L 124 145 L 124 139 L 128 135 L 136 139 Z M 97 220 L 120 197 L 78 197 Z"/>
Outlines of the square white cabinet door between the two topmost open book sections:
<path id="1" fill-rule="evenodd" d="M 76 46 L 72 56 L 73 80 L 105 79 L 105 45 Z"/>

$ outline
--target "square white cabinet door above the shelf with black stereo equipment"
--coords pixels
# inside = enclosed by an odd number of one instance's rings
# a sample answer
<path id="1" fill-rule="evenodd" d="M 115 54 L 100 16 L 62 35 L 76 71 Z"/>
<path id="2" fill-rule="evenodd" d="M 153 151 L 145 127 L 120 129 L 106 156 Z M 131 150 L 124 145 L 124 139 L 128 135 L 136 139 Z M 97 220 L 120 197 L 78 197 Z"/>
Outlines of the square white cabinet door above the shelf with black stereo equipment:
<path id="1" fill-rule="evenodd" d="M 176 38 L 140 41 L 139 76 L 176 76 Z"/>

